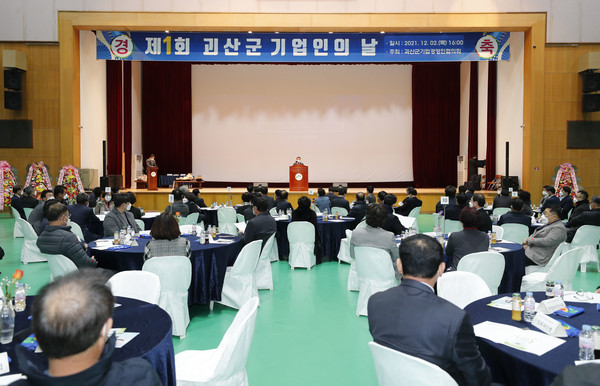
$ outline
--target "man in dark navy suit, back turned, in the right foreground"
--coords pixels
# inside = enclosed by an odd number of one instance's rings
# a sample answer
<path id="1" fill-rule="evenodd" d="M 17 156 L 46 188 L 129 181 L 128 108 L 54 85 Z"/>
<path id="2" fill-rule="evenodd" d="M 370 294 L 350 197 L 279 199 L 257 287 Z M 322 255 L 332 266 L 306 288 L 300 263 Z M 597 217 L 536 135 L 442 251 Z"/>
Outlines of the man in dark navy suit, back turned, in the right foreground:
<path id="1" fill-rule="evenodd" d="M 369 299 L 373 340 L 439 366 L 459 385 L 489 385 L 490 370 L 469 314 L 433 290 L 446 268 L 437 240 L 425 235 L 404 239 L 396 263 L 402 283 Z"/>

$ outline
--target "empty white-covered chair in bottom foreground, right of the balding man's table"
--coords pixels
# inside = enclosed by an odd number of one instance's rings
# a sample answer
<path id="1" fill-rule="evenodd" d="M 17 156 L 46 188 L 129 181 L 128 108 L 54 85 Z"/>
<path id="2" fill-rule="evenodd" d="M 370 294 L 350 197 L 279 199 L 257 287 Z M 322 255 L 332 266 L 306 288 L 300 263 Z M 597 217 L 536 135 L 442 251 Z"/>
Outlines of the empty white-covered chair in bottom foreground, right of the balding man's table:
<path id="1" fill-rule="evenodd" d="M 177 385 L 248 386 L 246 361 L 258 303 L 253 297 L 242 305 L 216 349 L 185 350 L 175 355 Z"/>

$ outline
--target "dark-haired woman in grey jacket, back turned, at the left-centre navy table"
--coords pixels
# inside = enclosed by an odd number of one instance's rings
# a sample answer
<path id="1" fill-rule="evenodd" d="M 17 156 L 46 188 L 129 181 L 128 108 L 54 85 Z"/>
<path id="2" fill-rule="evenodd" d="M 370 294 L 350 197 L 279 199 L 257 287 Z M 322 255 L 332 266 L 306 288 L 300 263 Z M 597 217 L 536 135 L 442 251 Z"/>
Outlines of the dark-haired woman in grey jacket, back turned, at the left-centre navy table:
<path id="1" fill-rule="evenodd" d="M 190 241 L 180 235 L 175 217 L 171 213 L 161 213 L 150 229 L 152 240 L 146 244 L 144 261 L 158 256 L 190 257 Z"/>

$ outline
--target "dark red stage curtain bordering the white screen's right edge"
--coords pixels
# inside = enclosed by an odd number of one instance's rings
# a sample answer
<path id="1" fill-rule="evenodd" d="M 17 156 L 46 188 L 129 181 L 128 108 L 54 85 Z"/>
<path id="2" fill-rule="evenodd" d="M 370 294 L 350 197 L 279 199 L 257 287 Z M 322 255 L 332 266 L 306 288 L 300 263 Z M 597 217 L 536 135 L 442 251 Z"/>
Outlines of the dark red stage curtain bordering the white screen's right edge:
<path id="1" fill-rule="evenodd" d="M 415 186 L 456 185 L 460 63 L 413 64 L 412 104 Z"/>

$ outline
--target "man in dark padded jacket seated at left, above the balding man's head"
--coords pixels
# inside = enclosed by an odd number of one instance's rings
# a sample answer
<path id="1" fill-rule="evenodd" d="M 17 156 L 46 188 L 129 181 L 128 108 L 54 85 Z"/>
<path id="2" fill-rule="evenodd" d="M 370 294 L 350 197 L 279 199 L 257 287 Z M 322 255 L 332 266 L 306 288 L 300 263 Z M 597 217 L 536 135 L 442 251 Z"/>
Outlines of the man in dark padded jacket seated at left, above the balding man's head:
<path id="1" fill-rule="evenodd" d="M 71 232 L 70 226 L 67 226 L 69 220 L 67 206 L 58 201 L 48 201 L 45 211 L 49 223 L 36 242 L 40 251 L 52 255 L 64 255 L 73 261 L 77 268 L 96 267 L 98 263 L 85 252 L 87 245 Z"/>

